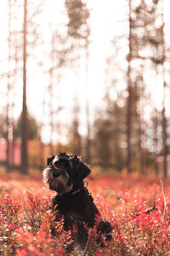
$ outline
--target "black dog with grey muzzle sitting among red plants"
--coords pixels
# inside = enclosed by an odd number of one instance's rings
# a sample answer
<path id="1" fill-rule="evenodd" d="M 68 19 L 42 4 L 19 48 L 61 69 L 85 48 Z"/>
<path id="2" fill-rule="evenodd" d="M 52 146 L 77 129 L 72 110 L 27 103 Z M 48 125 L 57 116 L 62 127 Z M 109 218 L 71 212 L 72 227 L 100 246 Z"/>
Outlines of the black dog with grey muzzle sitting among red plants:
<path id="1" fill-rule="evenodd" d="M 81 255 L 88 241 L 88 228 L 95 225 L 96 216 L 99 216 L 97 232 L 98 242 L 105 236 L 111 240 L 111 224 L 103 221 L 92 196 L 84 187 L 83 179 L 88 176 L 90 169 L 82 163 L 80 157 L 73 154 L 60 153 L 48 158 L 48 167 L 43 171 L 43 181 L 49 189 L 57 192 L 53 199 L 53 211 L 56 212 L 56 220 L 64 218 L 64 230 L 72 230 L 77 227 L 77 239 L 74 249 Z M 101 236 L 102 235 L 102 236 Z"/>

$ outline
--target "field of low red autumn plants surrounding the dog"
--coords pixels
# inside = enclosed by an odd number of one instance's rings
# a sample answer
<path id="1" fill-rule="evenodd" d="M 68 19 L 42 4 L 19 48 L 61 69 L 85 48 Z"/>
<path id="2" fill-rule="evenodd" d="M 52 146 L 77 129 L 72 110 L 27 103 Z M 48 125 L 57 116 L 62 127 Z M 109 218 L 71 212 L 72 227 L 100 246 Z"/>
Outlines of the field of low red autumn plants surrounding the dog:
<path id="1" fill-rule="evenodd" d="M 95 229 L 89 230 L 85 255 L 170 255 L 168 181 L 92 177 L 88 190 L 102 217 L 113 225 L 113 239 L 99 247 Z M 42 176 L 0 177 L 0 255 L 76 255 L 67 253 L 71 234 L 48 211 L 53 195 Z"/>

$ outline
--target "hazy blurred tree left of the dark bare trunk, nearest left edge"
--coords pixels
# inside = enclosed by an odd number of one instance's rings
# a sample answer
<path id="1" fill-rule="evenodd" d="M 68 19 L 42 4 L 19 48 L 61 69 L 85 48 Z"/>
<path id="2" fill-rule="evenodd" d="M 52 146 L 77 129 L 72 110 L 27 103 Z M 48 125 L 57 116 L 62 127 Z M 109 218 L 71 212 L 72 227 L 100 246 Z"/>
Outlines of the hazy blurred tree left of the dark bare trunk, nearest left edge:
<path id="1" fill-rule="evenodd" d="M 7 107 L 6 107 L 6 141 L 7 141 L 7 171 L 14 162 L 14 105 L 15 105 L 15 84 L 21 70 L 21 33 L 18 22 L 17 11 L 20 3 L 14 0 L 7 1 L 8 7 L 8 51 L 7 58 L 3 59 L 3 71 L 1 78 L 7 83 Z M 7 63 L 8 62 L 8 63 Z"/>

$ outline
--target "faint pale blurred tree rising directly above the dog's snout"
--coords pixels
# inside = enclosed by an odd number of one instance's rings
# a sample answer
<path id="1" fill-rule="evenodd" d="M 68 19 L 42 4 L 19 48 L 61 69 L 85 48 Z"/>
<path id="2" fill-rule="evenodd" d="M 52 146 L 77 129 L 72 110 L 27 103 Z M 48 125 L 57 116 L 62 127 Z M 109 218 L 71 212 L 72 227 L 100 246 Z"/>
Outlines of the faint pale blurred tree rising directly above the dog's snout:
<path id="1" fill-rule="evenodd" d="M 54 154 L 54 134 L 59 135 L 60 125 L 58 120 L 58 115 L 62 110 L 62 106 L 59 104 L 59 72 L 61 75 L 61 70 L 67 67 L 69 62 L 69 53 L 71 52 L 71 44 L 68 43 L 67 35 L 65 33 L 65 24 L 60 24 L 60 29 L 58 31 L 58 26 L 54 24 L 49 24 L 51 34 L 51 45 L 48 52 L 48 58 L 50 61 L 48 69 L 49 83 L 47 86 L 48 100 L 44 101 L 45 105 L 48 105 L 48 117 L 50 125 L 50 154 Z M 62 27 L 62 29 L 61 29 Z M 57 90 L 56 90 L 57 89 Z"/>

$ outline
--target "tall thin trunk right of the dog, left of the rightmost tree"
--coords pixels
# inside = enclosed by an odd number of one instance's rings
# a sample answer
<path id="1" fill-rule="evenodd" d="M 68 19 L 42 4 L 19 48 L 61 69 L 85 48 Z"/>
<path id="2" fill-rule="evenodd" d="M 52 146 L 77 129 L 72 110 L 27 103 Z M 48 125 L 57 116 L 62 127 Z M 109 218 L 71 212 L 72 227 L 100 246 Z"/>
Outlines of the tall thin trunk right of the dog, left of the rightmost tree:
<path id="1" fill-rule="evenodd" d="M 131 119 L 132 119 L 132 83 L 131 83 L 131 61 L 132 61 L 132 20 L 131 0 L 129 0 L 129 35 L 128 35 L 128 66 L 127 66 L 127 172 L 131 172 Z"/>

